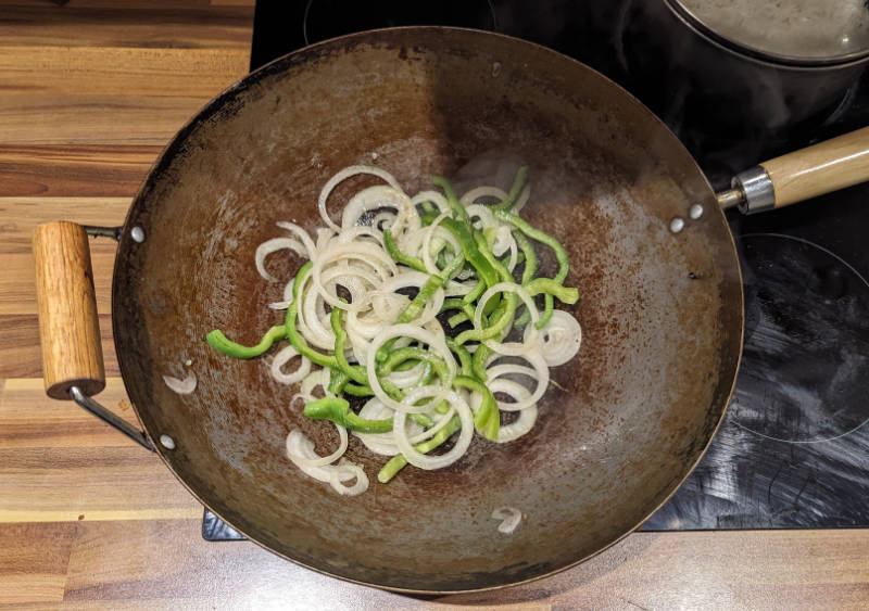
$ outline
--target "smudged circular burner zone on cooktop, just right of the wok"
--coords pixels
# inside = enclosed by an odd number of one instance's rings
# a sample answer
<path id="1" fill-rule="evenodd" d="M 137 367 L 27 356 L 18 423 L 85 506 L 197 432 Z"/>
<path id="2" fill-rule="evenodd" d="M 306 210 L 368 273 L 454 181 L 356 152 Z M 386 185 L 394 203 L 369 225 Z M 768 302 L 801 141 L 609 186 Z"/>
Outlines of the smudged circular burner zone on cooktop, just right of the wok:
<path id="1" fill-rule="evenodd" d="M 744 365 L 730 406 L 733 424 L 792 444 L 831 442 L 861 429 L 869 417 L 853 386 L 869 378 L 869 355 L 861 349 L 869 346 L 849 332 L 859 330 L 869 304 L 869 282 L 845 259 L 810 240 L 759 232 L 743 234 L 738 243 L 746 278 L 746 336 Z M 801 329 L 804 322 L 807 329 Z M 834 365 L 839 367 L 833 371 Z M 806 372 L 813 367 L 820 373 Z M 743 405 L 746 398 L 751 406 Z M 757 430 L 744 418 L 753 409 L 756 419 L 774 420 L 770 424 L 774 433 Z M 835 421 L 843 411 L 844 424 Z M 815 428 L 822 430 L 777 434 L 794 425 L 811 428 L 813 418 L 821 421 Z M 830 431 L 831 423 L 846 430 Z"/>

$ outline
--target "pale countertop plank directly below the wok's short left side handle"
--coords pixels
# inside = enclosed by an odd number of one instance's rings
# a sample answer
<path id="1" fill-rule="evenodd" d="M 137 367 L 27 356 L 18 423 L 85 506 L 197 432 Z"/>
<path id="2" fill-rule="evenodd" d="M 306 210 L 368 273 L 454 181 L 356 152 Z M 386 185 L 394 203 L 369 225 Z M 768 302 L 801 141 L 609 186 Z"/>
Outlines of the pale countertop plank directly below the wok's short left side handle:
<path id="1" fill-rule="evenodd" d="M 201 515 L 156 455 L 39 386 L 13 380 L 3 390 L 0 524 Z M 109 379 L 100 400 L 136 423 L 119 379 Z"/>

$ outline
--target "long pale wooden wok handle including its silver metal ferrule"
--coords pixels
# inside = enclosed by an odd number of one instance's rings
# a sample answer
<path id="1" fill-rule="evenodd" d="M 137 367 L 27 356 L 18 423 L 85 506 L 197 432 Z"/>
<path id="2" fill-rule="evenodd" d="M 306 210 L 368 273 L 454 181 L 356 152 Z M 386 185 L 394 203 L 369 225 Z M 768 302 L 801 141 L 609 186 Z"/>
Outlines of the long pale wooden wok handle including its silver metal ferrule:
<path id="1" fill-rule="evenodd" d="M 817 195 L 869 180 L 869 127 L 761 162 L 736 175 L 729 195 L 741 212 L 752 214 L 790 206 Z"/>

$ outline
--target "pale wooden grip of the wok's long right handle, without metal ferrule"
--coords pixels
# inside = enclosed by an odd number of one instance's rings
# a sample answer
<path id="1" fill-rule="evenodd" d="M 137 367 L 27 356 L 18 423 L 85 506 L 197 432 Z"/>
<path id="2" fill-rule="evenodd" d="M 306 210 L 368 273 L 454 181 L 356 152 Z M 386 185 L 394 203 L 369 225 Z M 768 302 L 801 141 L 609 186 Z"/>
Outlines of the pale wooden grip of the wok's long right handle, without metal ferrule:
<path id="1" fill-rule="evenodd" d="M 869 180 L 869 127 L 760 164 L 780 208 Z"/>

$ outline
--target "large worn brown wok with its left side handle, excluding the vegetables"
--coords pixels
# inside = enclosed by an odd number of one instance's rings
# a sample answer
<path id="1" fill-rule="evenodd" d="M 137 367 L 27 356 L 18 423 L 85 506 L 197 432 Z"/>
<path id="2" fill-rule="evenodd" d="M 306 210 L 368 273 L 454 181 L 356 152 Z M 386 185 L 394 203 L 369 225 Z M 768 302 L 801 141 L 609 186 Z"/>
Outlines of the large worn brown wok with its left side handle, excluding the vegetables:
<path id="1" fill-rule="evenodd" d="M 459 186 L 503 182 L 506 169 L 529 164 L 524 216 L 567 246 L 567 284 L 581 295 L 568 309 L 584 336 L 579 355 L 553 369 L 557 384 L 528 435 L 503 445 L 478 437 L 450 468 L 408 468 L 387 485 L 373 478 L 382 457 L 351 440 L 348 457 L 373 483 L 348 498 L 285 455 L 291 429 L 324 451 L 332 428 L 291 407 L 295 389 L 262 362 L 224 357 L 204 336 L 221 328 L 249 343 L 275 322 L 266 304 L 281 288 L 256 275 L 256 245 L 279 234 L 278 220 L 313 230 L 327 178 L 373 161 L 408 192 L 432 174 Z M 753 202 L 757 192 L 746 180 L 723 200 Z M 600 74 L 499 35 L 398 28 L 281 58 L 180 130 L 123 227 L 90 232 L 119 240 L 113 332 L 144 429 L 126 432 L 153 440 L 179 481 L 252 540 L 363 584 L 491 588 L 601 551 L 697 462 L 740 360 L 736 251 L 689 153 Z M 42 226 L 35 251 L 47 391 L 72 393 L 117 423 L 89 398 L 104 374 L 85 230 Z M 272 271 L 287 278 L 300 264 Z M 542 265 L 553 271 L 555 262 Z M 192 394 L 164 384 L 164 374 L 187 371 L 198 377 Z M 490 518 L 504 505 L 527 514 L 511 536 Z"/>

